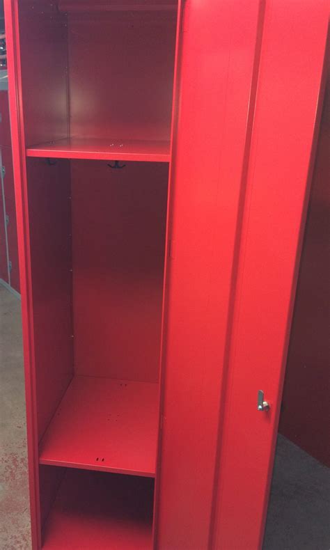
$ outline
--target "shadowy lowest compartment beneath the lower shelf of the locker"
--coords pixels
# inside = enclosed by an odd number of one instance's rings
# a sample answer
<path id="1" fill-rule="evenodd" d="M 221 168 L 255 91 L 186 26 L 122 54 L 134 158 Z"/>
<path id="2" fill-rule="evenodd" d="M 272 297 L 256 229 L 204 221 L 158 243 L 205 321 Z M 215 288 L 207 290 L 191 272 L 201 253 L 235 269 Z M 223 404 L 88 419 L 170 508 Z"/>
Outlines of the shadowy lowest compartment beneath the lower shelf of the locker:
<path id="1" fill-rule="evenodd" d="M 44 550 L 150 550 L 151 478 L 68 469 L 43 531 Z"/>

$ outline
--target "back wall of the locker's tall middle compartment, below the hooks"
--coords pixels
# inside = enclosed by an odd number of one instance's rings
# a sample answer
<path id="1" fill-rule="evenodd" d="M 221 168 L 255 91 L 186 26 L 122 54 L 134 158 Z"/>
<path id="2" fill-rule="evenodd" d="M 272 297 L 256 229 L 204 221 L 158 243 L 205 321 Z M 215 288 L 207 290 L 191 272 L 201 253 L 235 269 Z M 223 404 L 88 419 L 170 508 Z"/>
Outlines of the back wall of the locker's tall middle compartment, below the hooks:
<path id="1" fill-rule="evenodd" d="M 71 163 L 74 370 L 157 382 L 168 166 Z"/>

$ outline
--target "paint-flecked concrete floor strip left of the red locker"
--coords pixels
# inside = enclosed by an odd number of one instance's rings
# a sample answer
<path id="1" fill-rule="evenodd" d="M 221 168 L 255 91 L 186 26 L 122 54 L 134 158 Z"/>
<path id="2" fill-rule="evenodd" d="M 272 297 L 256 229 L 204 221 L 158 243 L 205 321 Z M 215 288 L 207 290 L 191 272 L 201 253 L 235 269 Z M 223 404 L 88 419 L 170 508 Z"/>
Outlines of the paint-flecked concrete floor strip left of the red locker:
<path id="1" fill-rule="evenodd" d="M 21 302 L 0 285 L 0 549 L 30 548 Z"/>

